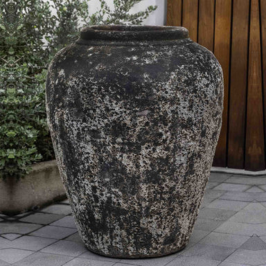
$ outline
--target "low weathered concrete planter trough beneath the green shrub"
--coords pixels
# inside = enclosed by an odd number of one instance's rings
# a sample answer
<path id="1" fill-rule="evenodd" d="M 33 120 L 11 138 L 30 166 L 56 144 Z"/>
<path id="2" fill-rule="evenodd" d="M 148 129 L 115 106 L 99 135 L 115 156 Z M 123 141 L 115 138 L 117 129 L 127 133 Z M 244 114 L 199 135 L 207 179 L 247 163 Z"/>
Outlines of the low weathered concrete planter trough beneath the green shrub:
<path id="1" fill-rule="evenodd" d="M 24 178 L 0 179 L 0 213 L 14 215 L 64 198 L 55 160 L 36 163 Z"/>

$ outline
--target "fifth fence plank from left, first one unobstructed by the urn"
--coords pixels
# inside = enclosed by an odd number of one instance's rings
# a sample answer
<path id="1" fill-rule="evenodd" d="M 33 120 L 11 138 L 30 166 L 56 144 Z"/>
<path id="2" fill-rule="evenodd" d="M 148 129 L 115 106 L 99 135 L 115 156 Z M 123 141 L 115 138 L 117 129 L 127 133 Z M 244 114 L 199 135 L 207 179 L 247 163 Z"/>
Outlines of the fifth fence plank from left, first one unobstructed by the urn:
<path id="1" fill-rule="evenodd" d="M 244 168 L 245 162 L 249 1 L 233 1 L 227 166 L 240 169 Z"/>

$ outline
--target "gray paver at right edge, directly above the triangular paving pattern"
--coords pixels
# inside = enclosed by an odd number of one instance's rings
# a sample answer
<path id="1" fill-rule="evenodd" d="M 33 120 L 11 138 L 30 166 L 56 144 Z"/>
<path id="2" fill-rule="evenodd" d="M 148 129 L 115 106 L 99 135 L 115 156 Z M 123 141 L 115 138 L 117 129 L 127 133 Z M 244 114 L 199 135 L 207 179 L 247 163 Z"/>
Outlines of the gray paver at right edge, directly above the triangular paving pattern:
<path id="1" fill-rule="evenodd" d="M 233 233 L 241 236 L 266 236 L 266 224 L 244 224 L 240 222 L 224 222 L 214 230 L 220 233 Z"/>

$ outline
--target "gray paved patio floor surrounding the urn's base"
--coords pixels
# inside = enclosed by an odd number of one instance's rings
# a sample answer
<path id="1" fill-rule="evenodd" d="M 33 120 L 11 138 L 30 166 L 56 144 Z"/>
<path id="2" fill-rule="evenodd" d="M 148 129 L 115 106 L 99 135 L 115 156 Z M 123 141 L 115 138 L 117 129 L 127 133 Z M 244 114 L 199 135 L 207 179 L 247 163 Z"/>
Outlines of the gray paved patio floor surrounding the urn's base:
<path id="1" fill-rule="evenodd" d="M 212 173 L 186 249 L 161 258 L 114 259 L 87 251 L 67 200 L 0 214 L 0 266 L 266 265 L 266 177 Z"/>

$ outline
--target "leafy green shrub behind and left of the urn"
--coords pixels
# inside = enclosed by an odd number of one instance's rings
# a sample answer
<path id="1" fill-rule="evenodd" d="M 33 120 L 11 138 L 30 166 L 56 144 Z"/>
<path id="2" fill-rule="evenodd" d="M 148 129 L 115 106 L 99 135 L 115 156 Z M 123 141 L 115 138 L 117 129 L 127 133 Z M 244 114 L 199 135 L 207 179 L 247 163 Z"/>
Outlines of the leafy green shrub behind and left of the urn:
<path id="1" fill-rule="evenodd" d="M 104 0 L 89 15 L 85 0 L 0 0 L 0 177 L 23 177 L 54 159 L 46 124 L 46 68 L 55 53 L 93 24 L 141 24 L 156 7 L 130 14 L 141 0 Z M 55 11 L 55 14 L 54 14 Z"/>

